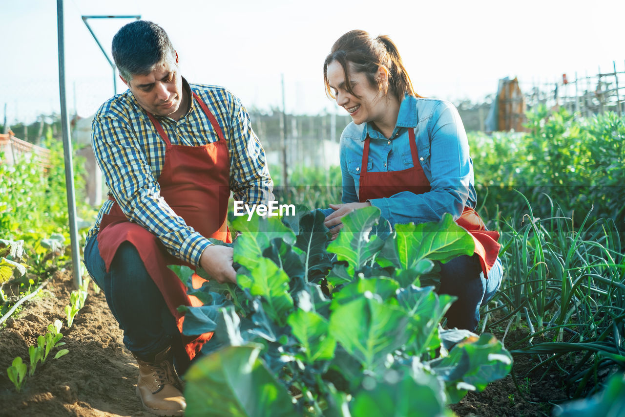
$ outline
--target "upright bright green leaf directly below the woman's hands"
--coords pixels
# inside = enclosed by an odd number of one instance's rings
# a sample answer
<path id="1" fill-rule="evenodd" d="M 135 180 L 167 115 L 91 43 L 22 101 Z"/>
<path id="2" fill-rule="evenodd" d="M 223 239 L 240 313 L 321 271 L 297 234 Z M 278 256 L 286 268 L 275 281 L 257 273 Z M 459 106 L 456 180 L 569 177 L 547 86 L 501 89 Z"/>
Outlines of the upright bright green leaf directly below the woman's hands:
<path id="1" fill-rule="evenodd" d="M 364 207 L 342 218 L 343 228 L 337 238 L 328 245 L 327 251 L 346 260 L 350 275 L 362 269 L 384 245 L 384 240 L 372 234 L 380 218 L 380 209 Z"/>

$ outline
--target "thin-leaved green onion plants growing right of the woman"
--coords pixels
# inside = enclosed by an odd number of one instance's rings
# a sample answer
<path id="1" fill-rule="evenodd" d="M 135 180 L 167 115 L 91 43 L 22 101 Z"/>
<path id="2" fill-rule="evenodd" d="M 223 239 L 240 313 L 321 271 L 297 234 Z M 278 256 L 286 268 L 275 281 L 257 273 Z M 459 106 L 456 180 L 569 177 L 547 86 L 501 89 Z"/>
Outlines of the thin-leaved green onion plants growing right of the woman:
<path id="1" fill-rule="evenodd" d="M 539 217 L 523 197 L 527 212 L 502 227 L 502 259 L 507 277 L 499 294 L 499 321 L 522 326 L 529 335 L 511 346 L 513 354 L 538 354 L 535 368 L 549 365 L 564 373 L 579 396 L 592 381 L 625 367 L 625 255 L 612 219 L 579 227 L 549 200 Z M 548 197 L 547 197 L 548 198 Z M 524 316 L 524 317 L 523 317 Z M 532 344 L 540 336 L 544 342 Z M 569 364 L 572 361 L 572 366 Z"/>

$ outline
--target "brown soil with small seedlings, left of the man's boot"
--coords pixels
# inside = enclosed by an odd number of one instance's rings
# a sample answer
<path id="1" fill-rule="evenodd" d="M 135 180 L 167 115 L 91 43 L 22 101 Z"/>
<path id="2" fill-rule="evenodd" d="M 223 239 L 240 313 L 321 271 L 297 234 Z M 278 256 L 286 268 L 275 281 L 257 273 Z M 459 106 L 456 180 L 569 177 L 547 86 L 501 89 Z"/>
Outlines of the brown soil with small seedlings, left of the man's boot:
<path id="1" fill-rule="evenodd" d="M 135 395 L 138 366 L 123 344 L 123 332 L 104 298 L 104 292 L 89 296 L 74 317 L 65 322 L 64 308 L 73 291 L 69 272 L 57 272 L 42 295 L 28 301 L 0 330 L 0 416 L 152 416 L 143 411 Z M 15 317 L 15 316 L 14 316 Z M 27 376 L 20 393 L 6 375 L 13 358 L 29 363 L 28 347 L 47 332 L 48 324 L 63 321 L 65 346 L 49 354 L 33 376 Z M 69 353 L 54 359 L 58 349 Z"/>

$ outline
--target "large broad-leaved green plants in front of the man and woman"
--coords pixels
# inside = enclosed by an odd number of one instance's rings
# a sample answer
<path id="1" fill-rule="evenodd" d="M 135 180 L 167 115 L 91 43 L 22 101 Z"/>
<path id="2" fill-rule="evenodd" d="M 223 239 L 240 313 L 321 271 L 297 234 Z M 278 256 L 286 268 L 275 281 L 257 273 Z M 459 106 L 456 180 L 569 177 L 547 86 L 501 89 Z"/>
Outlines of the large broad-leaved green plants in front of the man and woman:
<path id="1" fill-rule="evenodd" d="M 334 241 L 318 211 L 241 219 L 237 285 L 194 289 L 170 266 L 204 303 L 180 307 L 183 333 L 214 332 L 185 376 L 186 415 L 444 415 L 509 373 L 495 337 L 440 325 L 454 297 L 434 291 L 434 261 L 474 250 L 451 215 L 393 230 L 367 207 Z"/>

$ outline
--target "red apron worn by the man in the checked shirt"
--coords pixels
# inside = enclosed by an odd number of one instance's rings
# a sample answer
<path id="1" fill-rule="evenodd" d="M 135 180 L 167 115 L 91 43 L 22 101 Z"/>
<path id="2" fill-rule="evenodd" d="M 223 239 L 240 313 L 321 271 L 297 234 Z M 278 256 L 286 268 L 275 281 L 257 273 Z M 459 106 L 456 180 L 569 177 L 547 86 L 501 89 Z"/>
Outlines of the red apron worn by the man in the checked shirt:
<path id="1" fill-rule="evenodd" d="M 211 121 L 219 140 L 198 147 L 172 145 L 161 123 L 148 113 L 166 143 L 163 170 L 158 178 L 161 197 L 187 225 L 202 236 L 232 242 L 226 225 L 230 197 L 230 158 L 226 139 L 204 101 L 196 93 L 193 96 Z M 98 233 L 98 248 L 107 271 L 119 245 L 127 241 L 138 250 L 148 274 L 163 294 L 182 333 L 184 316 L 178 312 L 178 306 L 198 307 L 202 306 L 202 302 L 194 296 L 187 296 L 186 287 L 167 265 L 187 265 L 195 269 L 194 265 L 170 255 L 156 235 L 141 225 L 129 222 L 118 203 L 114 202 L 109 214 L 103 215 Z M 205 280 L 194 274 L 192 281 L 193 286 L 198 288 Z M 183 336 L 189 358 L 192 359 L 211 337 L 212 332 L 200 336 Z"/>

